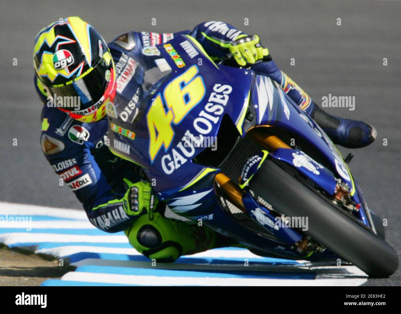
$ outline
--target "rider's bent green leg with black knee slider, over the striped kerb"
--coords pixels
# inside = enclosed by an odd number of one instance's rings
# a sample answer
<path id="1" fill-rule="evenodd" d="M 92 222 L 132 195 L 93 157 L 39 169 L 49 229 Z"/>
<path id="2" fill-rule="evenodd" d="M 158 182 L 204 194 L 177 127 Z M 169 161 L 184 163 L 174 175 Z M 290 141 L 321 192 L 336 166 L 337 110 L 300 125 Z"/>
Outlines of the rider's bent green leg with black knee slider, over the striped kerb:
<path id="1" fill-rule="evenodd" d="M 140 216 L 124 232 L 138 252 L 161 263 L 171 263 L 182 255 L 227 247 L 235 243 L 207 226 L 166 218 L 160 212 Z"/>

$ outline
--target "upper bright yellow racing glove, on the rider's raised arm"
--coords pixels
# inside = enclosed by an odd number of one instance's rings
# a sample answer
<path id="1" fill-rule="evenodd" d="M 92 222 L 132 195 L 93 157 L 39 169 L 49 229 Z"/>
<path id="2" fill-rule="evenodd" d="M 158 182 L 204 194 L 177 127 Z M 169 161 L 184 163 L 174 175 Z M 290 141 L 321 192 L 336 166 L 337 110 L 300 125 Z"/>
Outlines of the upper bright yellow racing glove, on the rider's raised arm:
<path id="1" fill-rule="evenodd" d="M 230 53 L 241 66 L 252 65 L 269 55 L 269 50 L 261 45 L 259 36 L 239 35 L 230 44 Z"/>

